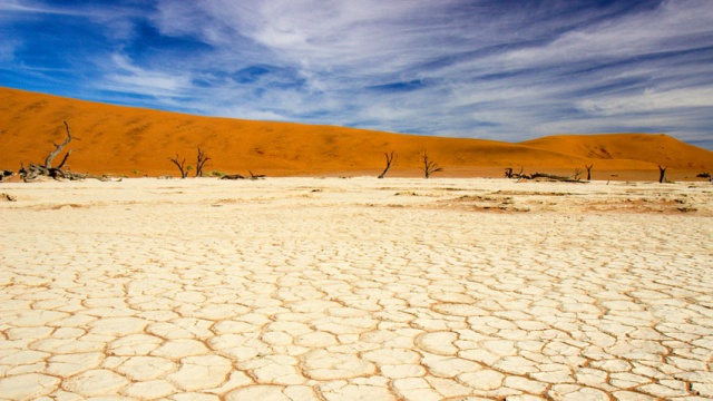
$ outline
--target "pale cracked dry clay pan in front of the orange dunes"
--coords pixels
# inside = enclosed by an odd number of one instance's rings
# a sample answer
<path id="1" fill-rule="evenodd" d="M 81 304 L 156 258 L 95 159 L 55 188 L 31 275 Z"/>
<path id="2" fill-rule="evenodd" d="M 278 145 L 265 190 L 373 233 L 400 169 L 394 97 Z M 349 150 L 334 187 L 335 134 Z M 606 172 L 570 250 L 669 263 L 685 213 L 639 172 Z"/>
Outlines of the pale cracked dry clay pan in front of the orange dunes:
<path id="1" fill-rule="evenodd" d="M 713 398 L 707 183 L 0 192 L 2 399 Z"/>

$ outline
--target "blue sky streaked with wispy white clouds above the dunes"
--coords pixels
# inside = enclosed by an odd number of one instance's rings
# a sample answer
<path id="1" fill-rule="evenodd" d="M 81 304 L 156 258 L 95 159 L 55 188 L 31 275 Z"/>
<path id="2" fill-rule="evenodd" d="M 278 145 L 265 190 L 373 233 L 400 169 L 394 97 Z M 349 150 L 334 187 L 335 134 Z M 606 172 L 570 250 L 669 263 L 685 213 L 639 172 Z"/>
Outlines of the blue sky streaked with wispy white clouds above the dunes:
<path id="1" fill-rule="evenodd" d="M 711 0 L 0 0 L 0 86 L 164 110 L 713 149 Z"/>

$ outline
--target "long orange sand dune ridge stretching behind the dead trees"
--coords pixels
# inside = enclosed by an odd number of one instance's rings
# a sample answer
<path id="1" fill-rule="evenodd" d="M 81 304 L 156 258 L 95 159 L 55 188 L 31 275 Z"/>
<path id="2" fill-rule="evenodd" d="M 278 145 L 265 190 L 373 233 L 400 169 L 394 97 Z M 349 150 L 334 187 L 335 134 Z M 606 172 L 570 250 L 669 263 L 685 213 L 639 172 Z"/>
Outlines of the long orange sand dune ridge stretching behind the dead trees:
<path id="1" fill-rule="evenodd" d="M 681 179 L 713 170 L 713 151 L 664 135 L 556 136 L 521 144 L 427 137 L 291 123 L 198 117 L 82 101 L 0 88 L 0 168 L 41 163 L 66 137 L 72 172 L 110 175 L 177 175 L 176 154 L 196 164 L 196 148 L 211 157 L 204 170 L 229 174 L 378 175 L 384 153 L 399 154 L 389 176 L 421 174 L 424 150 L 441 176 L 501 176 L 506 167 L 561 173 L 595 165 L 595 179 L 657 178 L 657 164 Z M 60 157 L 56 159 L 59 163 Z M 622 174 L 616 174 L 621 172 Z M 636 176 L 638 177 L 638 176 Z"/>

